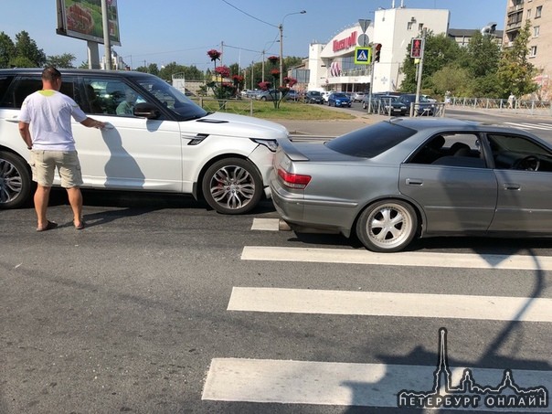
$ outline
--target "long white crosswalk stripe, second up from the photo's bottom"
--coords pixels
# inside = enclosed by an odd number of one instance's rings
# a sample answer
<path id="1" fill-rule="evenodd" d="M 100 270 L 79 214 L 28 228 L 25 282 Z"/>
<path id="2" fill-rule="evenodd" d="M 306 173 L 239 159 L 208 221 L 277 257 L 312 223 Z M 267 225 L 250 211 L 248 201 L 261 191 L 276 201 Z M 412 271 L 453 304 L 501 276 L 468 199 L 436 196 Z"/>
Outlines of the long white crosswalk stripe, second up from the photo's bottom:
<path id="1" fill-rule="evenodd" d="M 552 322 L 552 299 L 234 287 L 228 311 Z"/>

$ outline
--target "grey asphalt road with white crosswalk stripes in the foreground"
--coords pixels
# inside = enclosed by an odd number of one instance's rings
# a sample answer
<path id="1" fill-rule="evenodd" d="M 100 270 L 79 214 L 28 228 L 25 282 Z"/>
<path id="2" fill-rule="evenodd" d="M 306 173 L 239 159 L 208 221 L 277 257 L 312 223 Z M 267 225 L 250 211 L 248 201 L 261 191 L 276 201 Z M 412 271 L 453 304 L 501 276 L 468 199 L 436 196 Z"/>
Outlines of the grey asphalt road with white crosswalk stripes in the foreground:
<path id="1" fill-rule="evenodd" d="M 426 239 L 382 259 L 279 231 L 270 202 L 231 217 L 84 196 L 81 231 L 61 191 L 55 230 L 0 211 L 2 414 L 404 412 L 400 390 L 433 387 L 443 327 L 456 383 L 509 369 L 552 390 L 552 240 Z"/>

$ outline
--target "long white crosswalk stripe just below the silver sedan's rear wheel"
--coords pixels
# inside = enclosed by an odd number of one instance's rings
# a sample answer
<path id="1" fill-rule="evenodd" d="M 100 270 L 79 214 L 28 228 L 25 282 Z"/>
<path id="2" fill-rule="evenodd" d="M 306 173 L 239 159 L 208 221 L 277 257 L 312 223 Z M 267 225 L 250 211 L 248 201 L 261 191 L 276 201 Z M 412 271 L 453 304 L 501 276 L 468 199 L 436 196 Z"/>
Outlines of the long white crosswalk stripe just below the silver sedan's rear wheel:
<path id="1" fill-rule="evenodd" d="M 463 269 L 552 271 L 552 257 L 475 253 L 374 253 L 365 249 L 312 249 L 245 246 L 241 260 L 427 266 Z"/>

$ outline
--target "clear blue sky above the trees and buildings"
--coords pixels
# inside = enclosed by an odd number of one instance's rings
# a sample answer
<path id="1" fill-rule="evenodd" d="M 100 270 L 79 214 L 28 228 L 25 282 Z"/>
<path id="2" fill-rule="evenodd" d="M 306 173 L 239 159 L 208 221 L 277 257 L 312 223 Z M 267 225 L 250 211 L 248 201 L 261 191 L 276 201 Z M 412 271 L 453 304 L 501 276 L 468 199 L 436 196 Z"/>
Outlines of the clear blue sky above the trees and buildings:
<path id="1" fill-rule="evenodd" d="M 222 64 L 251 62 L 280 54 L 306 58 L 309 45 L 327 43 L 358 19 L 374 19 L 378 7 L 448 9 L 450 27 L 504 29 L 508 0 L 117 0 L 121 46 L 113 49 L 132 68 L 156 63 L 210 69 L 207 50 L 222 50 Z M 0 0 L 0 31 L 16 40 L 25 30 L 47 56 L 72 53 L 75 66 L 88 60 L 84 40 L 56 34 L 54 0 Z M 299 14 L 302 10 L 306 13 Z M 31 17 L 32 16 L 32 17 Z M 40 16 L 40 17 L 36 17 Z M 100 54 L 104 53 L 100 45 Z M 218 62 L 220 64 L 220 62 Z"/>

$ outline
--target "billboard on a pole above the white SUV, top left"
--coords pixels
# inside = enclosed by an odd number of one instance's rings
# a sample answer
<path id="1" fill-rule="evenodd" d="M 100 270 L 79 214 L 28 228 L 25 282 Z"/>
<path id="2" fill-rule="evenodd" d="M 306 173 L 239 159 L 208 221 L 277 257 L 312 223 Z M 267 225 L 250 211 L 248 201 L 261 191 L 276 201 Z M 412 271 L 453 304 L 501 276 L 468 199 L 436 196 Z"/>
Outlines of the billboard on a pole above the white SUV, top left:
<path id="1" fill-rule="evenodd" d="M 121 46 L 117 0 L 106 0 L 111 45 Z M 58 35 L 103 43 L 101 0 L 57 0 Z"/>

